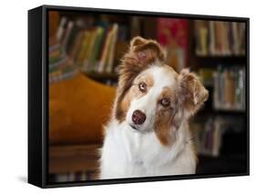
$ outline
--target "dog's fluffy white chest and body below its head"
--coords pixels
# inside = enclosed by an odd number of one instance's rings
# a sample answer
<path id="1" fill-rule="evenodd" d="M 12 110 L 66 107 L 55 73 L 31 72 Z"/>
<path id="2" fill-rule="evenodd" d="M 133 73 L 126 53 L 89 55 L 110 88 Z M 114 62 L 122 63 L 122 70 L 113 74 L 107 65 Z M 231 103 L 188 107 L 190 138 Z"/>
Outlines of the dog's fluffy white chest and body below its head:
<path id="1" fill-rule="evenodd" d="M 111 121 L 100 158 L 100 179 L 193 174 L 196 157 L 187 124 L 176 132 L 171 146 L 160 144 L 155 133 L 140 133 Z"/>

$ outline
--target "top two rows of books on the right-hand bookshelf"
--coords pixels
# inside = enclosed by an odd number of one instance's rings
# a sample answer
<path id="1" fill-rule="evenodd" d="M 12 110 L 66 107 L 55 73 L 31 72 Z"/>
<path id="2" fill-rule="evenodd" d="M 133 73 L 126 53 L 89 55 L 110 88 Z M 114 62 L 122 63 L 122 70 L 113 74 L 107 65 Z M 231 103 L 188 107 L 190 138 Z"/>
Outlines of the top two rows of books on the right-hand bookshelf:
<path id="1" fill-rule="evenodd" d="M 244 112 L 245 24 L 195 20 L 189 26 L 190 67 L 199 72 L 202 80 L 205 75 L 211 77 L 205 85 L 211 87 L 212 106 L 208 103 L 206 109 L 230 114 Z"/>

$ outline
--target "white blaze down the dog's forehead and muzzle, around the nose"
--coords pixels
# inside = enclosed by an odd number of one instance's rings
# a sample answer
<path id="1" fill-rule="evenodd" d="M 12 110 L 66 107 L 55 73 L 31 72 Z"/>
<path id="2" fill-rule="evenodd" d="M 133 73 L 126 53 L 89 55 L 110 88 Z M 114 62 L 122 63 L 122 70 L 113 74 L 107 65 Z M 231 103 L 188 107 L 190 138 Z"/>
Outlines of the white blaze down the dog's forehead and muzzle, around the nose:
<path id="1" fill-rule="evenodd" d="M 153 129 L 155 115 L 158 111 L 159 96 L 164 88 L 173 88 L 176 86 L 177 73 L 167 65 L 152 65 L 144 72 L 138 75 L 138 82 L 146 82 L 148 78 L 152 81 L 152 85 L 147 87 L 147 92 L 131 99 L 128 108 L 126 120 L 128 124 L 136 126 L 138 131 L 150 131 Z M 137 82 L 137 79 L 135 79 Z M 140 125 L 134 124 L 132 121 L 132 114 L 136 110 L 146 114 L 146 121 Z"/>

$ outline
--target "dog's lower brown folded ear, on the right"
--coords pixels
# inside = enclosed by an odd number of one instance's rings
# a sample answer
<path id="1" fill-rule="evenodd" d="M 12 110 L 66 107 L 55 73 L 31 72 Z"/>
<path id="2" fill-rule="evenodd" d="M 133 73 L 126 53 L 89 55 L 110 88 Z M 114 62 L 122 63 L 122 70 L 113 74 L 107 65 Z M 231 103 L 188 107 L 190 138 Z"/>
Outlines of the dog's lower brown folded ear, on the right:
<path id="1" fill-rule="evenodd" d="M 179 73 L 179 106 L 185 111 L 184 115 L 191 116 L 197 112 L 208 99 L 209 92 L 200 82 L 195 73 L 184 69 Z"/>

